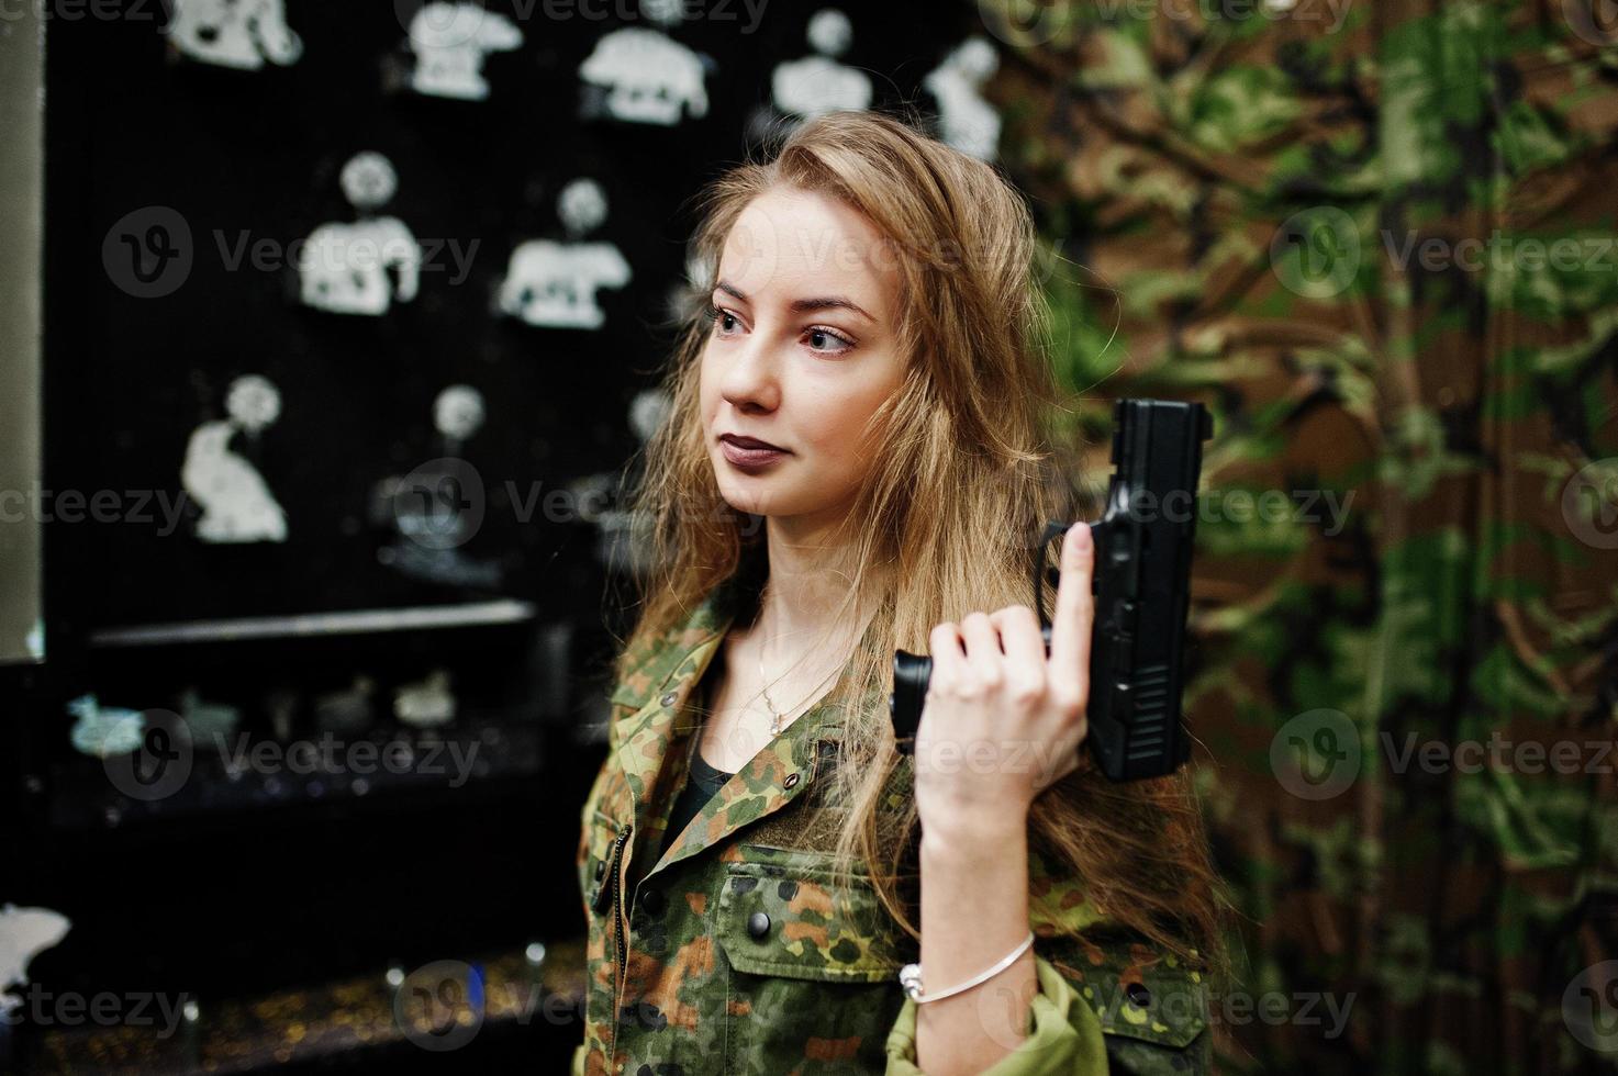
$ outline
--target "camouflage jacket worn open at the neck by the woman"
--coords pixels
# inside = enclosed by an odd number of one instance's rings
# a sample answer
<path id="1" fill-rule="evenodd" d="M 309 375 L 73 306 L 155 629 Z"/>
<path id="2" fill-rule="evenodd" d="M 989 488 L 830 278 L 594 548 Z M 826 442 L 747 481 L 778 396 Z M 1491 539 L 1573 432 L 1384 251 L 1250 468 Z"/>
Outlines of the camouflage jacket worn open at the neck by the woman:
<path id="1" fill-rule="evenodd" d="M 916 1003 L 898 982 L 917 945 L 872 887 L 833 890 L 827 869 L 838 807 L 815 778 L 841 733 L 832 705 L 794 720 L 657 854 L 696 727 L 686 702 L 735 618 L 725 594 L 636 655 L 612 694 L 578 845 L 587 968 L 573 1071 L 919 1076 Z M 1032 848 L 1029 861 L 1039 993 L 1029 1037 L 989 1071 L 1207 1073 L 1197 974 L 1108 932 L 1071 879 Z"/>

